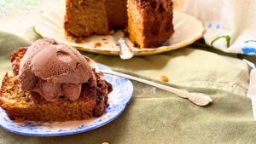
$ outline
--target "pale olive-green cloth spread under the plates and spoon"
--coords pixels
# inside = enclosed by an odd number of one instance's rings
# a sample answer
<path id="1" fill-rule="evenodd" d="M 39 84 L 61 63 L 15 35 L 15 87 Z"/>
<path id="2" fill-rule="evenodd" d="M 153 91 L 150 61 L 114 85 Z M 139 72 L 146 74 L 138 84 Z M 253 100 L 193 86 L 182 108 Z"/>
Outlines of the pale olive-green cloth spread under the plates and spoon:
<path id="1" fill-rule="evenodd" d="M 20 37 L 0 32 L 0 77 L 10 70 L 10 53 L 28 44 Z M 246 97 L 249 70 L 242 60 L 200 47 L 131 60 L 83 54 L 138 77 L 160 82 L 165 75 L 170 81 L 164 84 L 205 93 L 213 103 L 198 107 L 172 93 L 132 81 L 135 92 L 131 103 L 109 124 L 77 135 L 55 137 L 16 135 L 0 129 L 0 143 L 255 143 L 256 123 L 251 101 Z"/>

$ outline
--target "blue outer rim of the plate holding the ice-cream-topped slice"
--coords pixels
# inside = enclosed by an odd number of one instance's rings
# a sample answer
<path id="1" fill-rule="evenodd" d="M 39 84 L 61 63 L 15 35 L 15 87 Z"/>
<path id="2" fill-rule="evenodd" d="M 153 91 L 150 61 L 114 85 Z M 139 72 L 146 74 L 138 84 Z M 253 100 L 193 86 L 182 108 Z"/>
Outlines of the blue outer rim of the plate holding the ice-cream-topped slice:
<path id="1" fill-rule="evenodd" d="M 99 64 L 99 63 L 97 63 L 97 66 L 100 66 L 100 67 L 108 68 L 108 69 L 109 69 L 108 66 L 104 66 L 104 65 Z M 119 77 L 119 76 L 113 76 L 113 75 L 111 75 L 111 74 L 106 74 L 106 75 L 109 75 L 110 77 L 122 78 L 122 77 Z M 91 127 L 90 129 L 85 129 L 85 130 L 81 129 L 81 130 L 75 130 L 75 131 L 70 131 L 70 132 L 68 132 L 68 131 L 61 131 L 61 132 L 60 132 L 60 131 L 55 131 L 55 132 L 52 132 L 52 133 L 46 133 L 46 132 L 44 132 L 45 134 L 43 134 L 43 133 L 33 133 L 33 134 L 32 134 L 32 133 L 27 133 L 27 132 L 20 132 L 20 130 L 12 130 L 12 129 L 10 129 L 8 126 L 4 125 L 4 124 L 1 122 L 1 120 L 0 120 L 0 127 L 2 127 L 4 130 L 7 130 L 7 131 L 9 131 L 9 132 L 12 132 L 12 133 L 18 134 L 18 135 L 41 136 L 41 137 L 44 137 L 44 136 L 60 136 L 60 135 L 74 135 L 74 134 L 84 133 L 84 132 L 87 132 L 87 131 L 90 131 L 90 130 L 96 130 L 97 128 L 102 127 L 103 125 L 108 124 L 108 123 L 112 122 L 114 119 L 118 118 L 118 117 L 125 111 L 125 108 L 126 108 L 126 107 L 129 105 L 129 103 L 131 102 L 131 99 L 132 99 L 132 97 L 134 96 L 134 86 L 133 86 L 133 84 L 131 83 L 131 80 L 130 80 L 130 79 L 128 79 L 128 78 L 124 78 L 124 79 L 126 80 L 126 83 L 127 83 L 127 84 L 130 84 L 130 85 L 131 85 L 131 95 L 129 95 L 130 97 L 129 97 L 128 101 L 125 102 L 125 106 L 122 107 L 122 109 L 120 109 L 120 111 L 119 111 L 116 115 L 114 115 L 113 118 L 109 118 L 106 122 L 104 122 L 104 123 L 102 123 L 102 124 L 98 124 L 98 125 L 96 125 L 96 126 L 94 126 L 94 127 Z M 4 110 L 3 110 L 2 107 L 0 107 L 0 112 L 4 112 Z M 4 114 L 6 114 L 6 112 L 4 112 Z M 7 117 L 8 117 L 8 116 L 7 116 Z M 101 118 L 101 117 L 99 117 L 99 118 Z M 14 121 L 11 120 L 11 119 L 9 119 L 9 120 L 12 121 L 12 122 L 14 122 Z M 68 121 L 67 121 L 67 122 L 68 122 Z M 39 122 L 39 123 L 40 123 L 40 122 Z M 44 123 L 44 122 L 43 122 L 43 123 Z M 14 124 L 15 124 L 15 122 L 14 122 Z M 76 129 L 76 128 L 74 128 L 74 129 Z"/>

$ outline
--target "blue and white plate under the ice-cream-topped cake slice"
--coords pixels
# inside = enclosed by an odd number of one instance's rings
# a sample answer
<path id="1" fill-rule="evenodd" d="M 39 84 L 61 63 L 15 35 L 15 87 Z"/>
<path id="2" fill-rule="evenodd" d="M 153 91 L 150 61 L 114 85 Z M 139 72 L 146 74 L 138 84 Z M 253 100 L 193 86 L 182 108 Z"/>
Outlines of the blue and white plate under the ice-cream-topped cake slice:
<path id="1" fill-rule="evenodd" d="M 100 69 L 108 69 L 107 66 L 99 66 Z M 113 75 L 105 75 L 106 80 L 113 85 L 113 91 L 109 95 L 109 107 L 106 113 L 100 118 L 91 118 L 89 120 L 55 122 L 55 123 L 36 123 L 24 122 L 15 123 L 10 120 L 6 113 L 0 108 L 0 126 L 10 132 L 20 135 L 32 136 L 55 136 L 55 135 L 73 135 L 89 130 L 94 130 L 104 124 L 108 124 L 117 118 L 131 101 L 133 95 L 133 85 L 126 78 L 120 78 Z"/>

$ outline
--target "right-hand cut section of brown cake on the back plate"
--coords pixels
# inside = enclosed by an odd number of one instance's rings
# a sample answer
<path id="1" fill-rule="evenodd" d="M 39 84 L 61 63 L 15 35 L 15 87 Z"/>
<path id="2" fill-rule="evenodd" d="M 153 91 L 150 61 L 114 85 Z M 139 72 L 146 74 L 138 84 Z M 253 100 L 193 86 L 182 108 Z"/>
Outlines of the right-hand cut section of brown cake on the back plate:
<path id="1" fill-rule="evenodd" d="M 172 0 L 128 0 L 128 32 L 139 48 L 154 48 L 172 36 Z"/>

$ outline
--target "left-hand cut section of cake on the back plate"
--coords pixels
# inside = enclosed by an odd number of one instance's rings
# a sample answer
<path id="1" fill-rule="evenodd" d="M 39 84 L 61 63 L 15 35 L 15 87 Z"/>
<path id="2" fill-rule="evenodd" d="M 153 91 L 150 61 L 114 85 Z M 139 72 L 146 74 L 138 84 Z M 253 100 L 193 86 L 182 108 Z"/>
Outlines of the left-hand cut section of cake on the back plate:
<path id="1" fill-rule="evenodd" d="M 126 0 L 66 0 L 64 28 L 67 35 L 106 35 L 127 25 Z"/>

